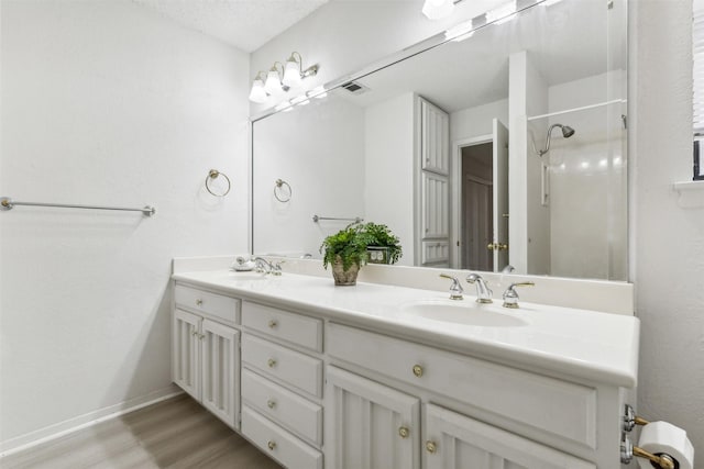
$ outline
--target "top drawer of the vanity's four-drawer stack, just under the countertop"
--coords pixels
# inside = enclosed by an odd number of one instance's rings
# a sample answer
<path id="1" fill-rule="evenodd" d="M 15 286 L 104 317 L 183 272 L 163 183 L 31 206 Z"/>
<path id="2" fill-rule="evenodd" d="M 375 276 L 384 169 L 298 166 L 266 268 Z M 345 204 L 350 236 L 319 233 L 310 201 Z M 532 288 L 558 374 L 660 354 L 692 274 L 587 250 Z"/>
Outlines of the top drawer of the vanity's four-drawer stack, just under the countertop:
<path id="1" fill-rule="evenodd" d="M 248 301 L 242 303 L 242 325 L 322 351 L 322 321 Z"/>

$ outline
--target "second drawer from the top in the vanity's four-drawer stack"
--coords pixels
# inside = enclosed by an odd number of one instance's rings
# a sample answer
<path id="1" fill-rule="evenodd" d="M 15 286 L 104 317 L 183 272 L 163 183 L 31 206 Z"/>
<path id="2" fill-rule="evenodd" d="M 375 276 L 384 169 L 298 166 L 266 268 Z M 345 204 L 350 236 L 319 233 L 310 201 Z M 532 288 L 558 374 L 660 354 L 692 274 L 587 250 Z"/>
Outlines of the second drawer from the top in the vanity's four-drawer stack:
<path id="1" fill-rule="evenodd" d="M 322 395 L 322 360 L 318 358 L 244 334 L 242 361 L 304 392 Z"/>

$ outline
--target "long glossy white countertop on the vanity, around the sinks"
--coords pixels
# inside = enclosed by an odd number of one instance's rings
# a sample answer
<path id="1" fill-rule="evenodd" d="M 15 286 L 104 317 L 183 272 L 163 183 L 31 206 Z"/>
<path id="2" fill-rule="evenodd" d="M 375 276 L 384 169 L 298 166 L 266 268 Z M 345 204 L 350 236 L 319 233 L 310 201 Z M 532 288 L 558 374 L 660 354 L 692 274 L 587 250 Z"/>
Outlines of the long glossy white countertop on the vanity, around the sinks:
<path id="1" fill-rule="evenodd" d="M 476 306 L 519 317 L 526 324 L 473 326 L 413 315 L 403 308 L 421 300 L 444 302 L 448 293 L 364 282 L 336 287 L 332 278 L 287 272 L 252 280 L 253 275 L 218 269 L 179 272 L 173 278 L 244 300 L 398 334 L 532 371 L 570 375 L 624 388 L 637 383 L 640 322 L 634 316 L 520 300 L 520 309 L 509 310 L 495 301 Z M 463 302 L 471 308 L 473 300 L 472 294 L 465 294 Z"/>

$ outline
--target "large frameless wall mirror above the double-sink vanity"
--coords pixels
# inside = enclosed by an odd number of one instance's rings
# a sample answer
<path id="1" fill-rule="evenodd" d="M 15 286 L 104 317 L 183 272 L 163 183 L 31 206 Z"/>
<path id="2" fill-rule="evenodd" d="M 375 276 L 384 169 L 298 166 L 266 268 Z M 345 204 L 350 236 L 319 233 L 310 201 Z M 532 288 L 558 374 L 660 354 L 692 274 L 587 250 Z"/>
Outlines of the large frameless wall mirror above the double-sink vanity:
<path id="1" fill-rule="evenodd" d="M 254 120 L 253 253 L 361 219 L 400 265 L 627 280 L 626 0 L 518 3 Z"/>

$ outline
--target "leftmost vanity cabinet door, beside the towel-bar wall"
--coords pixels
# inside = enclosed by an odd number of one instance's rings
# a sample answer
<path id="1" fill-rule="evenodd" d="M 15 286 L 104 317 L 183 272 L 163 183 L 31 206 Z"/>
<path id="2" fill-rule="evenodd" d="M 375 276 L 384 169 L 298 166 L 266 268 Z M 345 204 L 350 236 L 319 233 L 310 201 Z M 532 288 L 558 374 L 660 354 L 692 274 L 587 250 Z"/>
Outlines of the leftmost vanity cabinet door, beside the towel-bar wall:
<path id="1" fill-rule="evenodd" d="M 191 313 L 174 310 L 172 375 L 176 384 L 200 400 L 200 323 Z"/>

